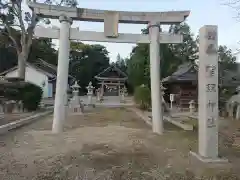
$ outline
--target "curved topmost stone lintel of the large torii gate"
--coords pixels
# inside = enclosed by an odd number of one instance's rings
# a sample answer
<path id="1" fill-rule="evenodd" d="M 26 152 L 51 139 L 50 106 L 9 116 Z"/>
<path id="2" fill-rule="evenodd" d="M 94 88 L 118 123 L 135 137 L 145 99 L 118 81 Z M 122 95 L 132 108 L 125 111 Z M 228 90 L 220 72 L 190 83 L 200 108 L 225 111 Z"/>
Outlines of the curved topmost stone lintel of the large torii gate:
<path id="1" fill-rule="evenodd" d="M 30 8 L 42 17 L 59 18 L 62 14 L 73 20 L 104 22 L 106 12 L 119 14 L 119 23 L 148 24 L 151 21 L 162 24 L 174 24 L 183 22 L 190 14 L 190 11 L 166 11 L 166 12 L 132 12 L 132 11 L 109 11 L 87 8 L 71 8 L 57 5 L 35 3 L 27 0 Z"/>

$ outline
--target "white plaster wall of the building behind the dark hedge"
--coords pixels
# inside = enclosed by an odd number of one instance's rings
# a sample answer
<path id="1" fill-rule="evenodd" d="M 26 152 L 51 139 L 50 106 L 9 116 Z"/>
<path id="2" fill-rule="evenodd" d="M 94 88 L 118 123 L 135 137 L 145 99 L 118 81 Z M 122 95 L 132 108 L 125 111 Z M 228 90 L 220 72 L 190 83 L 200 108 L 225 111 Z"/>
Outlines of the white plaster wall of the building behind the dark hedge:
<path id="1" fill-rule="evenodd" d="M 6 77 L 18 77 L 18 70 L 11 71 Z M 43 98 L 48 97 L 48 77 L 34 68 L 26 67 L 25 81 L 40 86 L 43 90 Z M 43 82 L 45 86 L 43 87 Z"/>

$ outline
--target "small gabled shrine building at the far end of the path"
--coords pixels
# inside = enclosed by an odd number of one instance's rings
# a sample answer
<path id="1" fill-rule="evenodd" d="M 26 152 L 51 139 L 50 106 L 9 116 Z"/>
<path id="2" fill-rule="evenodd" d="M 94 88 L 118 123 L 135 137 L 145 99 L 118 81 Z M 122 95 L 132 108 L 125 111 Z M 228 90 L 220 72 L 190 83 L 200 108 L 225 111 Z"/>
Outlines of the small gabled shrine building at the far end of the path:
<path id="1" fill-rule="evenodd" d="M 104 96 L 120 96 L 120 91 L 125 87 L 128 79 L 126 73 L 113 64 L 96 75 L 95 78 L 99 81 L 98 84 Z"/>

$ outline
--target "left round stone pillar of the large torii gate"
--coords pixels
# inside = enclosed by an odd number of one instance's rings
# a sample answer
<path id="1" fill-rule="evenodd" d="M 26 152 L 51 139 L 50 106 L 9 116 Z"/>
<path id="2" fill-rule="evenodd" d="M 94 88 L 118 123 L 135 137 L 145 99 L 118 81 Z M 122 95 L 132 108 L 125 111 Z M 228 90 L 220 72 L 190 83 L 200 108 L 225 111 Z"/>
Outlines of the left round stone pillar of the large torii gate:
<path id="1" fill-rule="evenodd" d="M 68 86 L 68 66 L 70 50 L 70 27 L 72 19 L 62 15 L 60 21 L 59 51 L 57 84 L 54 101 L 54 115 L 52 132 L 60 133 L 63 131 L 63 124 L 66 118 L 67 86 Z"/>

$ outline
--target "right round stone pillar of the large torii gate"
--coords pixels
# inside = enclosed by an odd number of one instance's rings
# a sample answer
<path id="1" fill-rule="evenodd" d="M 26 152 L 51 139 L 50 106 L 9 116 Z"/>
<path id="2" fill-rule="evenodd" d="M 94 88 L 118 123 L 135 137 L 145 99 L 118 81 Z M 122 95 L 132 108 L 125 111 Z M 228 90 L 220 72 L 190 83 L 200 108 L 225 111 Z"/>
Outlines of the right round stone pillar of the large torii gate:
<path id="1" fill-rule="evenodd" d="M 152 97 L 152 129 L 153 132 L 163 133 L 162 95 L 160 89 L 160 52 L 159 36 L 160 23 L 150 22 L 150 75 Z"/>

